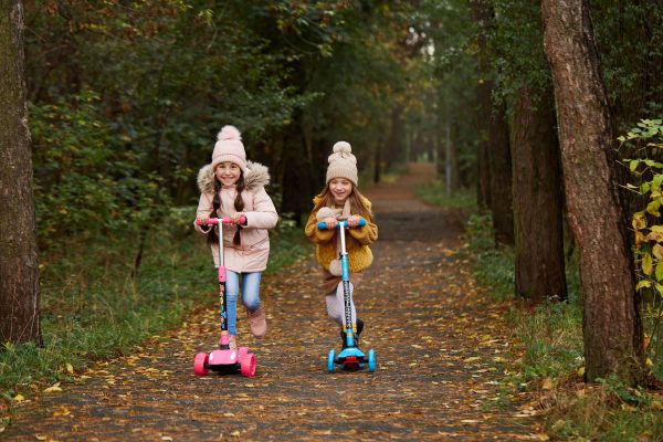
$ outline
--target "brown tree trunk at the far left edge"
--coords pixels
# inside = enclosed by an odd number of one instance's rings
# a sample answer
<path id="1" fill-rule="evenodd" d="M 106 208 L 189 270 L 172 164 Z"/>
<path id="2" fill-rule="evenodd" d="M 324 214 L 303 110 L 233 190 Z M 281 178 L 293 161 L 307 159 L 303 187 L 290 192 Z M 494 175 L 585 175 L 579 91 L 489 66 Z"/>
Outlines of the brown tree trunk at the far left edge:
<path id="1" fill-rule="evenodd" d="M 0 3 L 0 341 L 41 345 L 23 11 Z"/>

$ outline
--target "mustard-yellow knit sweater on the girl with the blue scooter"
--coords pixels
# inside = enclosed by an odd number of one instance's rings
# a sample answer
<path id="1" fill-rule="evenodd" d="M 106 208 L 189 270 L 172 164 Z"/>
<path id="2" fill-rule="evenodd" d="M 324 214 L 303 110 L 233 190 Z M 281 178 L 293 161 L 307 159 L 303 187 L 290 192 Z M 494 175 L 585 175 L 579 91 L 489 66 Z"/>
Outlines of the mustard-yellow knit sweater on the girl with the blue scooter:
<path id="1" fill-rule="evenodd" d="M 314 206 L 317 206 L 318 201 L 318 197 L 314 198 Z M 364 203 L 370 211 L 370 201 L 365 198 Z M 339 257 L 336 249 L 338 232 L 337 230 L 318 230 L 316 214 L 317 211 L 312 212 L 308 217 L 305 232 L 306 236 L 316 244 L 315 256 L 318 263 L 323 269 L 329 271 L 329 263 Z M 377 241 L 378 227 L 366 220 L 366 225 L 348 229 L 347 232 L 349 234 L 346 235 L 346 251 L 350 272 L 361 272 L 372 263 L 372 253 L 368 245 Z"/>

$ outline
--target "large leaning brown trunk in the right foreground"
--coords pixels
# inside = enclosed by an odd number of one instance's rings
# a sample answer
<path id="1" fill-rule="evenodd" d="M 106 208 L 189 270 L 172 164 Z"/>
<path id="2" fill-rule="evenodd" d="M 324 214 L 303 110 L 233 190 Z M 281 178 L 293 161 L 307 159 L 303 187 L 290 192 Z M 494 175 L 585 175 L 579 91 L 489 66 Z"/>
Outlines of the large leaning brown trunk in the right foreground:
<path id="1" fill-rule="evenodd" d="M 552 70 L 570 227 L 578 243 L 586 378 L 644 379 L 640 297 L 614 180 L 613 143 L 599 55 L 585 0 L 541 0 Z"/>

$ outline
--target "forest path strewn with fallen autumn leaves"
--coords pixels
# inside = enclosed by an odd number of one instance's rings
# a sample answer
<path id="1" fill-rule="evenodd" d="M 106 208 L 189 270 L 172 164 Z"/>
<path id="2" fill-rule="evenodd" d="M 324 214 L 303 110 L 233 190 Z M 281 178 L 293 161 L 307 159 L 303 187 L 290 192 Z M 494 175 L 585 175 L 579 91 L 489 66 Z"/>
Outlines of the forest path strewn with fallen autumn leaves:
<path id="1" fill-rule="evenodd" d="M 432 166 L 411 165 L 397 183 L 365 192 L 380 240 L 355 299 L 367 324 L 361 347 L 376 350 L 375 373 L 326 371 L 327 352 L 338 351 L 340 339 L 308 256 L 264 277 L 264 339 L 250 337 L 240 320 L 240 343 L 257 357 L 256 377 L 193 375 L 193 356 L 218 339 L 217 308 L 200 309 L 180 329 L 94 367 L 63 392 L 24 401 L 1 438 L 541 440 L 515 409 L 496 407 L 503 362 L 514 357 L 505 306 L 476 287 L 459 253 L 457 218 L 415 199 L 413 189 L 433 176 Z"/>

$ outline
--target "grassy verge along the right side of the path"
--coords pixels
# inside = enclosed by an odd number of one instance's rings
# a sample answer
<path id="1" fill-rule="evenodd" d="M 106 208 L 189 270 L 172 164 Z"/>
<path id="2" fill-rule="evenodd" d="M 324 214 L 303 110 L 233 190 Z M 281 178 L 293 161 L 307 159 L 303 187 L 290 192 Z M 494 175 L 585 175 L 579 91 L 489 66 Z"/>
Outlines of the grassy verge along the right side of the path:
<path id="1" fill-rule="evenodd" d="M 435 197 L 434 189 L 441 194 Z M 457 207 L 443 190 L 441 185 L 435 185 L 421 190 L 420 194 L 432 192 L 432 197 L 425 197 L 427 201 Z M 466 253 L 473 257 L 474 277 L 493 294 L 495 302 L 513 299 L 513 248 L 496 246 L 490 214 L 469 208 L 472 214 L 466 222 Z M 506 320 L 512 325 L 522 356 L 514 358 L 501 397 L 506 399 L 527 391 L 530 399 L 539 403 L 548 434 L 554 440 L 663 441 L 660 391 L 630 388 L 615 378 L 583 382 L 579 271 L 575 259 L 567 264 L 568 302 L 547 303 L 534 312 L 514 307 L 507 314 Z M 645 333 L 651 335 L 653 328 L 654 322 L 645 320 Z M 663 372 L 663 364 L 654 359 L 652 370 Z M 504 406 L 505 401 L 502 402 Z"/>

